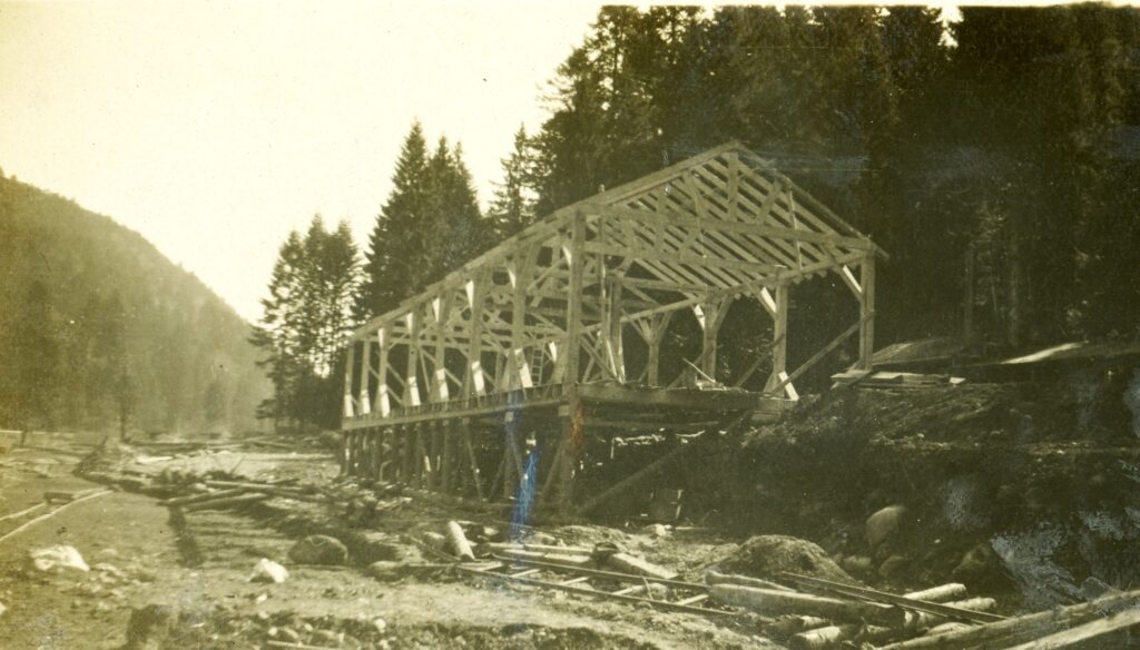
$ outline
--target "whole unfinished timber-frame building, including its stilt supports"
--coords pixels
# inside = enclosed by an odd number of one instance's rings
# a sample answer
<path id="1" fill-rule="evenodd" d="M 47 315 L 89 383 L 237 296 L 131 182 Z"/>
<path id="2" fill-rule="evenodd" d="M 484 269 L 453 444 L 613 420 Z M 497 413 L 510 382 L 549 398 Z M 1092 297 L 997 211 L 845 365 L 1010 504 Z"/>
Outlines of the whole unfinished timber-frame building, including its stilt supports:
<path id="1" fill-rule="evenodd" d="M 738 143 L 604 190 L 353 332 L 342 469 L 457 497 L 592 510 L 632 485 L 597 470 L 616 437 L 681 433 L 671 456 L 684 433 L 776 413 L 797 398 L 792 382 L 852 335 L 869 369 L 877 257 L 886 254 L 870 238 Z M 860 317 L 789 373 L 789 292 L 831 273 Z M 771 315 L 771 351 L 742 376 L 717 377 L 717 332 L 740 299 Z M 687 377 L 666 381 L 661 341 L 685 310 L 701 354 Z M 645 344 L 638 368 L 626 367 L 630 335 Z M 760 369 L 763 392 L 723 387 Z M 592 474 L 625 480 L 581 494 Z"/>

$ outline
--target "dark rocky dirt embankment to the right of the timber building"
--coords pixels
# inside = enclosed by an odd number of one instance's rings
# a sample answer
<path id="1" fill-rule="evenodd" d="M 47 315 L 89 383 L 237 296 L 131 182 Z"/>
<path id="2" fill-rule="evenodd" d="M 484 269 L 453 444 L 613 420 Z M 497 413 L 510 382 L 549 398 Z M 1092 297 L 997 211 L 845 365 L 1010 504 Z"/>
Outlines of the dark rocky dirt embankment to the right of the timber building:
<path id="1" fill-rule="evenodd" d="M 746 434 L 693 504 L 888 588 L 956 579 L 1035 609 L 1134 585 L 1140 446 L 1118 379 L 836 390 Z"/>

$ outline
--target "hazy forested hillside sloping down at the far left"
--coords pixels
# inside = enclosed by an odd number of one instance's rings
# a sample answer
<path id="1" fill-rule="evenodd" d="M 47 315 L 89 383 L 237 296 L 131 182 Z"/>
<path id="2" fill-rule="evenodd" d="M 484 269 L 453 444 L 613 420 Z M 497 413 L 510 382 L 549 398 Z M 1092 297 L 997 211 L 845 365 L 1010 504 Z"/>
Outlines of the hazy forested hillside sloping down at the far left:
<path id="1" fill-rule="evenodd" d="M 250 326 L 139 234 L 0 177 L 0 428 L 255 425 Z"/>

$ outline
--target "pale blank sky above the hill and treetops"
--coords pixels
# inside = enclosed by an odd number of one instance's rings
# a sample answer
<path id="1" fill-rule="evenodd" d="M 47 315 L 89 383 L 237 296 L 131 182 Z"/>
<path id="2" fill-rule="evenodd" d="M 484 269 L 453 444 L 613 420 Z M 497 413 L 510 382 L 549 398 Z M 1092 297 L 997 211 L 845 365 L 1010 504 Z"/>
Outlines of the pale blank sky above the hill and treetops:
<path id="1" fill-rule="evenodd" d="M 581 2 L 0 1 L 0 168 L 141 233 L 242 316 L 315 213 L 361 249 L 400 143 L 463 143 L 486 202 L 581 41 Z"/>

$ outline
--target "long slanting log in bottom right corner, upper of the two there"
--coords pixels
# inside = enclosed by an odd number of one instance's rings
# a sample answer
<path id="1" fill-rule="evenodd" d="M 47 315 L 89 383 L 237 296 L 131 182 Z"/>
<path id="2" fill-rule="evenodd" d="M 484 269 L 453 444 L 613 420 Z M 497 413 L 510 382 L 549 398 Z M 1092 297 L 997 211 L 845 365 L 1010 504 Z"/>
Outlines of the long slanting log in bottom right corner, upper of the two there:
<path id="1" fill-rule="evenodd" d="M 1024 643 L 1058 631 L 1083 625 L 1108 612 L 1140 607 L 1140 591 L 1117 593 L 1091 602 L 1072 604 L 1047 611 L 1039 611 L 1007 618 L 967 629 L 920 636 L 885 645 L 880 650 L 962 650 L 972 647 L 997 647 Z"/>

